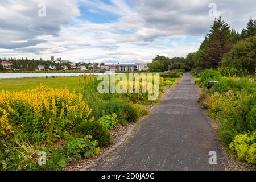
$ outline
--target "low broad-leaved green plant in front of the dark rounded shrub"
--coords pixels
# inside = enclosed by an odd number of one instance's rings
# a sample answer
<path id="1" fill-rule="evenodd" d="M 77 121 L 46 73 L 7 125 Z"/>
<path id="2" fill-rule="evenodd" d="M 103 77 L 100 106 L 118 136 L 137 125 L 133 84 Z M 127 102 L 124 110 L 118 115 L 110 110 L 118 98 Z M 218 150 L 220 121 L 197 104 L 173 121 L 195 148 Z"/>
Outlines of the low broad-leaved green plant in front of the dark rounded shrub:
<path id="1" fill-rule="evenodd" d="M 82 154 L 85 158 L 97 155 L 100 152 L 100 148 L 97 147 L 98 142 L 91 140 L 92 136 L 86 135 L 84 138 L 75 138 L 68 141 L 65 146 L 67 147 L 67 155 Z"/>

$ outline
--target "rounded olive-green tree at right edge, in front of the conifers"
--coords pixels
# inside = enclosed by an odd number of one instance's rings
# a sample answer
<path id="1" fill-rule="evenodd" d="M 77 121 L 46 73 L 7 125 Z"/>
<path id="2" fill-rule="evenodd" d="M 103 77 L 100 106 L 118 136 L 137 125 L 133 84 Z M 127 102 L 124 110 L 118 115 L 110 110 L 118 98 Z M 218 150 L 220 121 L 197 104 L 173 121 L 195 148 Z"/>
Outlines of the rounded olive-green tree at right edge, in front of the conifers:
<path id="1" fill-rule="evenodd" d="M 222 64 L 226 67 L 242 68 L 247 73 L 255 73 L 256 35 L 238 41 L 225 55 Z"/>

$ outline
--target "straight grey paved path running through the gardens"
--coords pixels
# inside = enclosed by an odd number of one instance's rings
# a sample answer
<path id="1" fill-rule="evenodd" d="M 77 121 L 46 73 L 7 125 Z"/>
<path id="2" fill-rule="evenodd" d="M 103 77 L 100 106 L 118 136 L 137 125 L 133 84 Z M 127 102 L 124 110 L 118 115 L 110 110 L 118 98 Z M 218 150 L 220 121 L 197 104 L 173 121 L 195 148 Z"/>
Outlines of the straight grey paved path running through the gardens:
<path id="1" fill-rule="evenodd" d="M 133 137 L 92 170 L 222 170 L 217 134 L 197 103 L 190 73 L 155 107 Z M 217 164 L 210 165 L 209 151 Z"/>

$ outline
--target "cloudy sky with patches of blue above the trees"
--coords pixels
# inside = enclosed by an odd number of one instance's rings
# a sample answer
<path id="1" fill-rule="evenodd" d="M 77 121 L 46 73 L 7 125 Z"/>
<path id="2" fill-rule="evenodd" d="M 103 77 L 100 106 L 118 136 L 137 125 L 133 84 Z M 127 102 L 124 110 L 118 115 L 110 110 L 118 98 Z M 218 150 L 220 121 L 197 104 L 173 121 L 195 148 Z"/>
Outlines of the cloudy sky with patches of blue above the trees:
<path id="1" fill-rule="evenodd" d="M 0 0 L 0 57 L 135 63 L 185 56 L 214 16 L 241 31 L 255 9 L 255 0 Z"/>

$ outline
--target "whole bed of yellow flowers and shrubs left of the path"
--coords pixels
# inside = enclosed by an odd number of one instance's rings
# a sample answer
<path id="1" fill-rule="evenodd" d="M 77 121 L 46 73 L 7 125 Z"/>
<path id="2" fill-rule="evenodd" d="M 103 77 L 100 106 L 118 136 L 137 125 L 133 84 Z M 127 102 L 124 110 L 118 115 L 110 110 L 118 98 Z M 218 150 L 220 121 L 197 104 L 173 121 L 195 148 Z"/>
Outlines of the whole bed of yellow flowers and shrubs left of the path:
<path id="1" fill-rule="evenodd" d="M 136 122 L 158 101 L 148 100 L 148 92 L 100 94 L 96 76 L 76 79 L 79 92 L 43 84 L 0 92 L 0 170 L 61 170 L 93 157 L 113 143 L 110 130 Z M 159 95 L 172 84 L 175 78 L 159 77 Z"/>

